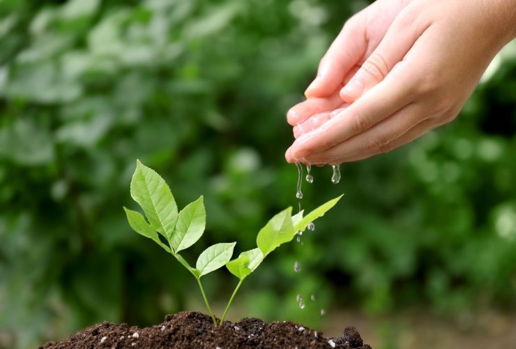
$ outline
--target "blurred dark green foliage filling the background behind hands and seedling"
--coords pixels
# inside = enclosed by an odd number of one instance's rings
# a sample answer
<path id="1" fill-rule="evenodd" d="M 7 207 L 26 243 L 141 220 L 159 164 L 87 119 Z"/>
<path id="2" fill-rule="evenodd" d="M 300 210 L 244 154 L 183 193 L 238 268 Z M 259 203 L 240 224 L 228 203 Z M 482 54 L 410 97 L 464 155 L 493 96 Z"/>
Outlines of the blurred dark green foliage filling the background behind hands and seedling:
<path id="1" fill-rule="evenodd" d="M 121 207 L 133 206 L 136 158 L 165 176 L 179 205 L 205 195 L 199 248 L 254 246 L 273 213 L 297 205 L 284 113 L 366 5 L 1 1 L 0 346 L 102 320 L 149 325 L 197 292 L 130 232 Z M 453 124 L 342 165 L 338 186 L 314 169 L 303 206 L 347 195 L 303 246 L 249 278 L 239 296 L 248 315 L 310 325 L 338 304 L 514 306 L 515 56 L 513 45 L 496 57 Z M 219 294 L 234 287 L 229 275 L 207 281 Z M 298 292 L 317 300 L 301 311 Z"/>

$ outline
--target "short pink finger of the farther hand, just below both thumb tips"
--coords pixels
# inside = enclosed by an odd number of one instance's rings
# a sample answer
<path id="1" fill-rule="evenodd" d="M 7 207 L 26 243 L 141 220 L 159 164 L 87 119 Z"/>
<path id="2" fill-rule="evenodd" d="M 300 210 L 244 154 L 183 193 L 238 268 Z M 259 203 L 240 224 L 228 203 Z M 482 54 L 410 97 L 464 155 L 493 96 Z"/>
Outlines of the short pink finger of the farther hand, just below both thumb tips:
<path id="1" fill-rule="evenodd" d="M 342 104 L 343 102 L 342 99 L 340 99 L 338 91 L 324 98 L 309 98 L 290 108 L 289 112 L 287 112 L 287 122 L 291 124 L 291 126 L 295 126 L 305 121 L 313 114 L 335 110 L 341 107 Z"/>

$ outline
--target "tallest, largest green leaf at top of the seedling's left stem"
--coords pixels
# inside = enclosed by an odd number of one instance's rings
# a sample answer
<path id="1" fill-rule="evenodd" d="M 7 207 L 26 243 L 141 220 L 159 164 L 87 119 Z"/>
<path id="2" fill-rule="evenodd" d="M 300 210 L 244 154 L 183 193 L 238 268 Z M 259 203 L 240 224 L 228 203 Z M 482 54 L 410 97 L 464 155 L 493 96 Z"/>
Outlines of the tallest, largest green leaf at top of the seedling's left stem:
<path id="1" fill-rule="evenodd" d="M 170 241 L 177 221 L 176 201 L 160 175 L 139 160 L 132 175 L 131 197 L 142 207 L 151 227 Z"/>

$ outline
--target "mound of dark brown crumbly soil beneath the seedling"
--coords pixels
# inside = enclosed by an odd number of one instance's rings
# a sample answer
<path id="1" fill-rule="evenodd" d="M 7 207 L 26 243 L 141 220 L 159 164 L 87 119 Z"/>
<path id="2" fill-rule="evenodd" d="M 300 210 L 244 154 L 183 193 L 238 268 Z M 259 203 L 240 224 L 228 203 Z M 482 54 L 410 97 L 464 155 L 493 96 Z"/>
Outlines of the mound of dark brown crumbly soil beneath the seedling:
<path id="1" fill-rule="evenodd" d="M 211 318 L 195 311 L 167 315 L 160 325 L 139 328 L 103 322 L 60 342 L 40 349 L 69 348 L 345 348 L 371 349 L 354 327 L 340 337 L 325 338 L 321 332 L 294 322 L 264 323 L 257 318 L 213 325 Z"/>

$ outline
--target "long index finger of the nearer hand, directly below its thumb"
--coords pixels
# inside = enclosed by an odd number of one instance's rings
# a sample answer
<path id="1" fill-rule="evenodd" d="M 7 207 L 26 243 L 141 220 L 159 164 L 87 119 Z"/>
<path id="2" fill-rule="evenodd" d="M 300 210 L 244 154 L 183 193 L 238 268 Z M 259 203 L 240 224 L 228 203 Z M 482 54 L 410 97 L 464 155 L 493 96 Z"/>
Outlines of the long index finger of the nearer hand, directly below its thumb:
<path id="1" fill-rule="evenodd" d="M 393 74 L 340 114 L 294 141 L 287 151 L 287 161 L 294 162 L 297 158 L 326 151 L 367 131 L 408 105 L 413 98 L 413 84 L 411 74 L 407 73 L 404 65 L 399 64 Z"/>

